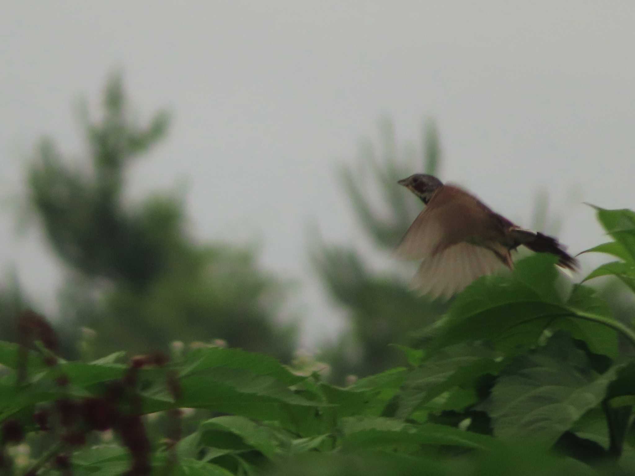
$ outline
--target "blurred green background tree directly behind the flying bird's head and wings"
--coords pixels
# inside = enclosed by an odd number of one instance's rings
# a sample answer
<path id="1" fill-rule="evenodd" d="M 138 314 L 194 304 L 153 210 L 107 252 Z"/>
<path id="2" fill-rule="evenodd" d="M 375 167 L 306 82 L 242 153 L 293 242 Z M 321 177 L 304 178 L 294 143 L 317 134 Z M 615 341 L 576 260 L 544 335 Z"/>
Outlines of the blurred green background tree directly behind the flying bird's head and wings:
<path id="1" fill-rule="evenodd" d="M 379 132 L 379 147 L 364 139 L 357 168 L 344 166 L 340 178 L 370 242 L 380 253 L 390 255 L 422 210 L 421 202 L 397 181 L 420 171 L 437 175 L 441 150 L 432 122 L 424 125 L 418 147 L 407 143 L 403 150 L 398 149 L 387 117 L 380 120 Z M 377 195 L 383 203 L 373 205 Z M 391 265 L 377 270 L 358 248 L 320 241 L 313 244 L 311 256 L 331 300 L 344 309 L 348 321 L 347 330 L 318 357 L 331 365 L 335 381 L 406 364 L 398 346 L 416 346 L 416 331 L 446 310 L 446 303 L 410 291 L 408 282 L 417 263 L 391 260 Z"/>

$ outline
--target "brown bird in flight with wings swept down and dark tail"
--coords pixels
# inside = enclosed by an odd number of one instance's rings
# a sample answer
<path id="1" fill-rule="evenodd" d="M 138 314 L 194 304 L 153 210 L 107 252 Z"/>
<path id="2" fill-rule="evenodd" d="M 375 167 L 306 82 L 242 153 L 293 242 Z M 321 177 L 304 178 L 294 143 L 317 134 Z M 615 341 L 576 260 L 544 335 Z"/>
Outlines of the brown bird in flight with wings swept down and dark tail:
<path id="1" fill-rule="evenodd" d="M 513 269 L 510 252 L 521 245 L 558 256 L 567 273 L 577 270 L 558 239 L 518 227 L 457 185 L 422 173 L 397 183 L 425 204 L 396 248 L 401 258 L 422 260 L 412 282 L 420 294 L 447 300 L 478 277 Z"/>

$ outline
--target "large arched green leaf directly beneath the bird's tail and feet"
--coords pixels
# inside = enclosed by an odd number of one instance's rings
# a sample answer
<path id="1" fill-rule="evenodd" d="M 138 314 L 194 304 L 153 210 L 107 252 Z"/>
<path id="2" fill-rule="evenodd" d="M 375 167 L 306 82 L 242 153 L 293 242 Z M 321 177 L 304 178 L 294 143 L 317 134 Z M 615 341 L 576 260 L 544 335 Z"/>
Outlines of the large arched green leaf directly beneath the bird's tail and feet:
<path id="1" fill-rule="evenodd" d="M 504 352 L 518 352 L 535 345 L 547 327 L 566 326 L 594 352 L 615 355 L 614 347 L 602 347 L 604 341 L 612 340 L 612 334 L 594 336 L 582 320 L 598 324 L 596 329 L 618 329 L 635 343 L 635 333 L 613 319 L 608 306 L 593 291 L 577 286 L 568 301 L 558 296 L 555 261 L 553 256 L 528 256 L 519 261 L 511 277 L 486 276 L 468 286 L 438 327 L 431 352 L 475 340 L 490 340 Z"/>

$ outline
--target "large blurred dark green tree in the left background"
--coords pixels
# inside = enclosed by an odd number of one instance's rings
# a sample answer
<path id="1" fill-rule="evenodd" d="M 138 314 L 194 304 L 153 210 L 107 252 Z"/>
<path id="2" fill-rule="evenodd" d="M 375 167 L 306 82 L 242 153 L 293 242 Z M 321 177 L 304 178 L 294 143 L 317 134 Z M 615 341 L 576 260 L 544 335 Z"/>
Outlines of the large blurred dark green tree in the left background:
<path id="1" fill-rule="evenodd" d="M 253 251 L 197 243 L 178 194 L 123 199 L 128 167 L 164 138 L 168 114 L 134 121 L 120 76 L 103 107 L 100 121 L 80 109 L 86 161 L 70 162 L 43 138 L 27 176 L 31 209 L 67 270 L 58 319 L 66 353 L 90 327 L 98 355 L 222 339 L 289 361 L 297 326 L 280 320 L 287 286 Z"/>

